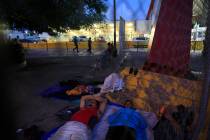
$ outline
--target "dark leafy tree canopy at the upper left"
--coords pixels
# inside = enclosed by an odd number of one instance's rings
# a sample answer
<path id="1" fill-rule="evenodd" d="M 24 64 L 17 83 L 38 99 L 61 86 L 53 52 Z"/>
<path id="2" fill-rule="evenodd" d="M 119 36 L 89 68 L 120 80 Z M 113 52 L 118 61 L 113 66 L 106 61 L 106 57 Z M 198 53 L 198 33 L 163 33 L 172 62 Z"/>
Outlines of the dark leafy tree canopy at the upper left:
<path id="1" fill-rule="evenodd" d="M 65 32 L 105 19 L 106 0 L 1 0 L 0 20 L 9 27 Z"/>

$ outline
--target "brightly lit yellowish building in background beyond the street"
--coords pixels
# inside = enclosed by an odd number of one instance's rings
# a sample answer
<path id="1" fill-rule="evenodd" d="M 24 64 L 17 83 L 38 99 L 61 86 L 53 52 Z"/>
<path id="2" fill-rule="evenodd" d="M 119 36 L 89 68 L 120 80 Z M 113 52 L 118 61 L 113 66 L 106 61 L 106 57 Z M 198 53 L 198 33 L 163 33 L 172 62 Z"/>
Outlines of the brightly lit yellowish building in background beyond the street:
<path id="1" fill-rule="evenodd" d="M 151 27 L 152 25 L 150 20 L 126 21 L 125 40 L 132 41 L 133 38 L 139 36 L 149 37 Z M 119 21 L 117 21 L 116 30 L 117 41 L 119 41 Z M 93 38 L 93 40 L 99 40 L 100 38 L 104 38 L 106 41 L 113 41 L 114 23 L 98 23 L 94 24 L 92 27 L 87 29 L 69 30 L 65 34 L 67 34 L 65 36 L 68 36 L 69 40 L 71 40 L 73 36 L 87 36 Z"/>

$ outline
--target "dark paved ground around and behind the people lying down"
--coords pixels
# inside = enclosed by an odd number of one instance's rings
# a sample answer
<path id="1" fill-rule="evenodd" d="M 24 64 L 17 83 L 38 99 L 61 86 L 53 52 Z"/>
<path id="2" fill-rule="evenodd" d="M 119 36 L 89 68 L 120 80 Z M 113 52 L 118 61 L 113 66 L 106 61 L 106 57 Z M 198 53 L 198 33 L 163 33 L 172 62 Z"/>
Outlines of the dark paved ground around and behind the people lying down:
<path id="1" fill-rule="evenodd" d="M 62 80 L 103 81 L 113 72 L 112 65 L 101 71 L 92 71 L 102 50 L 93 50 L 93 55 L 89 55 L 86 50 L 81 50 L 79 54 L 66 53 L 65 49 L 45 51 L 27 50 L 27 67 L 13 71 L 8 76 L 16 129 L 36 124 L 48 131 L 62 123 L 55 116 L 58 110 L 67 105 L 75 105 L 75 102 L 40 97 L 38 94 L 44 89 Z M 124 66 L 137 67 L 143 65 L 148 54 L 146 49 L 140 49 L 139 52 L 136 49 L 126 49 L 125 53 L 128 58 Z M 202 67 L 200 53 L 192 52 L 191 68 L 201 71 Z"/>

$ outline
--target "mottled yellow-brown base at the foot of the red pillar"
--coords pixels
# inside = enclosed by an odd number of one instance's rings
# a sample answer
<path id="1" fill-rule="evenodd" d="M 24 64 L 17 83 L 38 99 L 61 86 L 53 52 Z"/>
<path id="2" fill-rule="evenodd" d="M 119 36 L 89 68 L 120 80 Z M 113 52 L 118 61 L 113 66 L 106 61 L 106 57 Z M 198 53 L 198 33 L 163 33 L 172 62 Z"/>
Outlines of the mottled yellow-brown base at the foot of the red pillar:
<path id="1" fill-rule="evenodd" d="M 164 74 L 139 70 L 137 75 L 129 74 L 129 68 L 121 71 L 125 91 L 108 93 L 109 101 L 124 104 L 133 101 L 134 107 L 148 112 L 157 112 L 164 105 L 199 107 L 201 81 L 192 81 Z"/>

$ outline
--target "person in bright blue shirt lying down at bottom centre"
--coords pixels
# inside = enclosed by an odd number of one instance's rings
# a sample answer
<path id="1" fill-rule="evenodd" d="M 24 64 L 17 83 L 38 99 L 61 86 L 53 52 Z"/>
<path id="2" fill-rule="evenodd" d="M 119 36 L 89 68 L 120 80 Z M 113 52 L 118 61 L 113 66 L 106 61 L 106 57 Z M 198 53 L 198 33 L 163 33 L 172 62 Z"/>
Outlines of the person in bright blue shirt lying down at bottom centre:
<path id="1" fill-rule="evenodd" d="M 157 123 L 154 113 L 132 108 L 132 102 L 126 101 L 126 107 L 109 116 L 109 129 L 106 140 L 152 140 L 152 128 Z"/>

